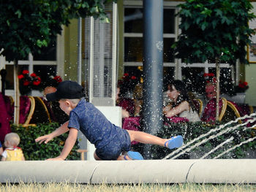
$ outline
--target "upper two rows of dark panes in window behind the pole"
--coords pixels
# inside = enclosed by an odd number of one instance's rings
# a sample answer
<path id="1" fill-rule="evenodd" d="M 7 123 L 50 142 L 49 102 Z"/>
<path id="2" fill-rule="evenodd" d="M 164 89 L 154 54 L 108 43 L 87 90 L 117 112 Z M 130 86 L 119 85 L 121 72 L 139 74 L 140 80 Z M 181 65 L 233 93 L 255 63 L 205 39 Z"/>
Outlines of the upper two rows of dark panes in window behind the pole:
<path id="1" fill-rule="evenodd" d="M 176 38 L 175 8 L 164 9 L 164 62 L 174 62 L 170 46 Z M 143 8 L 124 8 L 124 64 L 134 65 L 143 61 Z"/>

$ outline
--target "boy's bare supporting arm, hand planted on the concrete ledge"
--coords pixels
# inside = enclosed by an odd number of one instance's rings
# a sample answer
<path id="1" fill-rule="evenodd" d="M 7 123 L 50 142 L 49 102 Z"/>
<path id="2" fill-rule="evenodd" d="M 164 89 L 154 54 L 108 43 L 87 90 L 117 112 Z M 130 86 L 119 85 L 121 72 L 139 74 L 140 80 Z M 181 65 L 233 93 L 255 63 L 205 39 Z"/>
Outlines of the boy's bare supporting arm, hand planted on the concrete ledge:
<path id="1" fill-rule="evenodd" d="M 77 138 L 78 138 L 78 129 L 70 128 L 69 136 L 66 139 L 66 142 L 63 150 L 61 151 L 61 154 L 56 158 L 48 158 L 48 161 L 65 160 L 67 158 L 67 155 L 69 155 L 70 151 L 72 150 L 72 147 L 74 147 Z"/>

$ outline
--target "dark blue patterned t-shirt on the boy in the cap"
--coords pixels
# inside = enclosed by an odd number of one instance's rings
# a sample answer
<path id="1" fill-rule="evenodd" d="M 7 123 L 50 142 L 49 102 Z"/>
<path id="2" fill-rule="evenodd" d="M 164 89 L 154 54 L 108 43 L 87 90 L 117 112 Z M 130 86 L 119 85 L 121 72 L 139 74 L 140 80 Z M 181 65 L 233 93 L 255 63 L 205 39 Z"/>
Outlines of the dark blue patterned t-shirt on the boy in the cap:
<path id="1" fill-rule="evenodd" d="M 93 104 L 81 99 L 69 114 L 69 128 L 80 130 L 97 149 L 118 137 L 121 128 L 111 123 Z"/>

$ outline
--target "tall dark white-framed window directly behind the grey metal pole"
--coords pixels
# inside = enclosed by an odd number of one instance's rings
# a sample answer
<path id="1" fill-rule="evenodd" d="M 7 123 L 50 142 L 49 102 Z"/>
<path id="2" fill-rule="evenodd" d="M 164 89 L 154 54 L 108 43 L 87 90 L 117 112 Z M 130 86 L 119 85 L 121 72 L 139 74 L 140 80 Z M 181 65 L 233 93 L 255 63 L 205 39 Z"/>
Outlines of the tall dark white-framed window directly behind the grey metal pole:
<path id="1" fill-rule="evenodd" d="M 124 2 L 124 72 L 138 72 L 143 65 L 143 5 L 142 1 Z M 163 10 L 164 88 L 175 77 L 175 59 L 171 45 L 177 37 L 176 6 L 167 5 Z M 139 74 L 142 74 L 140 72 Z"/>

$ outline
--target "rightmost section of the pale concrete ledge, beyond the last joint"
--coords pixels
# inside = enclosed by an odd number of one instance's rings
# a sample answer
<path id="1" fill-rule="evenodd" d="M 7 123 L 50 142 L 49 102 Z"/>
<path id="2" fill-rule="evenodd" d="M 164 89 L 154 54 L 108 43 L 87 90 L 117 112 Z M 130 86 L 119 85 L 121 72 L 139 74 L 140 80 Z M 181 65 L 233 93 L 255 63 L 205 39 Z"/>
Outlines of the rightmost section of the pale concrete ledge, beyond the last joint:
<path id="1" fill-rule="evenodd" d="M 256 183 L 256 159 L 206 159 L 191 167 L 189 183 Z"/>

